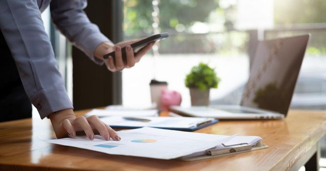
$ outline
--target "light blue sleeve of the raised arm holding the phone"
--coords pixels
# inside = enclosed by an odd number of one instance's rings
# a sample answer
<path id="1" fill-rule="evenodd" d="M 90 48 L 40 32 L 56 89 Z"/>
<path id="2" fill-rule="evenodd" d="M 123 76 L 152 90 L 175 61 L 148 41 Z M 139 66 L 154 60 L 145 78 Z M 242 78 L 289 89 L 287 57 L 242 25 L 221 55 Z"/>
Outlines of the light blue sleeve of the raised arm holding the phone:
<path id="1" fill-rule="evenodd" d="M 52 21 L 71 43 L 81 49 L 96 64 L 104 64 L 94 57 L 95 48 L 110 42 L 99 27 L 88 20 L 83 9 L 87 0 L 52 0 L 50 11 Z"/>

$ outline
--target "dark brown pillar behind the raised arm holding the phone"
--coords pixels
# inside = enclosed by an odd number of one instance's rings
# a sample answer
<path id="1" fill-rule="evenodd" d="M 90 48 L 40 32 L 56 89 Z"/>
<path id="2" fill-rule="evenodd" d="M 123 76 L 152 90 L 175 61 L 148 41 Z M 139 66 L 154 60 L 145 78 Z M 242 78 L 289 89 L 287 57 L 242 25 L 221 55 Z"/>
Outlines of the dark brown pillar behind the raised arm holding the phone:
<path id="1" fill-rule="evenodd" d="M 88 0 L 85 12 L 112 42 L 122 40 L 121 0 Z M 105 64 L 94 64 L 76 47 L 73 47 L 72 59 L 75 110 L 122 103 L 120 72 L 112 73 Z"/>

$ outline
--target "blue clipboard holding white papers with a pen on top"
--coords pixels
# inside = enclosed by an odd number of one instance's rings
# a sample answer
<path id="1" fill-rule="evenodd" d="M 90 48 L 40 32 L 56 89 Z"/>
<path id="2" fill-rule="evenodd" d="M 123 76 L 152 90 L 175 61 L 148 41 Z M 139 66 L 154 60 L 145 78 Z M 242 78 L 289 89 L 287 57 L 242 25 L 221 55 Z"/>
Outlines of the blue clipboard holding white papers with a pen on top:
<path id="1" fill-rule="evenodd" d="M 215 118 L 201 117 L 105 117 L 102 122 L 111 128 L 162 128 L 171 130 L 194 131 L 217 123 Z M 152 122 L 151 122 L 152 121 Z"/>

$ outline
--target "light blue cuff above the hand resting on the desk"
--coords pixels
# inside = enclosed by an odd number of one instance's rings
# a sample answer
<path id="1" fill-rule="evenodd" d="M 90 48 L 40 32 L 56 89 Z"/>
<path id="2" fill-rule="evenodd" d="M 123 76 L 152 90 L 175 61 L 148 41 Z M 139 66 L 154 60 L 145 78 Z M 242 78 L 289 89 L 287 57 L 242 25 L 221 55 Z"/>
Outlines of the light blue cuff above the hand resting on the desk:
<path id="1" fill-rule="evenodd" d="M 31 102 L 38 109 L 41 119 L 53 112 L 66 108 L 73 108 L 64 88 L 43 90 L 32 97 Z"/>

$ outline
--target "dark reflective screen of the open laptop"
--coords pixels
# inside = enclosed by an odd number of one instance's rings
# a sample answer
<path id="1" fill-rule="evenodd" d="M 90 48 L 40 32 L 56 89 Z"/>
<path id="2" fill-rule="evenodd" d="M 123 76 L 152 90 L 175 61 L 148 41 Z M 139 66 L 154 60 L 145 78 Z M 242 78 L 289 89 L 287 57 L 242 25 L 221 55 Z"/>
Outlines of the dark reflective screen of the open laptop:
<path id="1" fill-rule="evenodd" d="M 309 35 L 258 43 L 241 105 L 287 114 Z"/>

